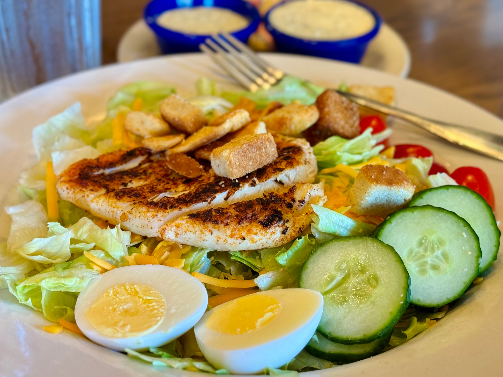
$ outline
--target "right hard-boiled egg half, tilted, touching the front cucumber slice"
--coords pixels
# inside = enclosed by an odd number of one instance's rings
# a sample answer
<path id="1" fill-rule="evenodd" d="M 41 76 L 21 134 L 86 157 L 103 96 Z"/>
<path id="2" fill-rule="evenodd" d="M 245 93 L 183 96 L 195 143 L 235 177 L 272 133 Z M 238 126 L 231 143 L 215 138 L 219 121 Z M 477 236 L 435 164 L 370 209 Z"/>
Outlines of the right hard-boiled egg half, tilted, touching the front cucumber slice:
<path id="1" fill-rule="evenodd" d="M 315 291 L 258 292 L 206 312 L 194 331 L 214 367 L 259 373 L 291 361 L 313 336 L 322 311 L 323 297 Z"/>

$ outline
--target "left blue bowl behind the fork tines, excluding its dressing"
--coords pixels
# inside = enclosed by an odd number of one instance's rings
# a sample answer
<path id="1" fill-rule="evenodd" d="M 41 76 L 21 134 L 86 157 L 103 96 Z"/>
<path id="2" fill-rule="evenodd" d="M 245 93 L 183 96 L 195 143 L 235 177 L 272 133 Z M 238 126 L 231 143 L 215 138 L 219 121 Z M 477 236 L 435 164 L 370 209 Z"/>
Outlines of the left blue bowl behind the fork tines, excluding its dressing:
<path id="1" fill-rule="evenodd" d="M 164 11 L 176 8 L 183 8 L 183 2 L 180 0 L 152 0 L 145 8 L 143 18 L 147 25 L 153 30 L 157 41 L 164 54 L 173 54 L 179 52 L 199 51 L 199 44 L 203 43 L 208 35 L 195 35 L 176 32 L 157 25 L 157 17 Z M 208 4 L 208 0 L 193 0 L 189 2 L 191 7 L 198 7 Z M 246 17 L 250 23 L 244 29 L 238 30 L 232 35 L 241 42 L 246 43 L 251 33 L 257 30 L 260 23 L 260 15 L 257 9 L 244 0 L 212 0 L 212 6 L 227 8 Z M 185 6 L 187 7 L 187 6 Z"/>

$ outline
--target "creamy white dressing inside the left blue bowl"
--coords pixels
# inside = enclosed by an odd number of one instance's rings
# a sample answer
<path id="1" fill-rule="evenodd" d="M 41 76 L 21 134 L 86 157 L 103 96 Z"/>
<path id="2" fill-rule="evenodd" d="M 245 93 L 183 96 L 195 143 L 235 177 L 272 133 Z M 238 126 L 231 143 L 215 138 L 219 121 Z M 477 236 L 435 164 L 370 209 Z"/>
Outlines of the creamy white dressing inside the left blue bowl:
<path id="1" fill-rule="evenodd" d="M 249 24 L 239 13 L 218 7 L 172 9 L 160 14 L 156 22 L 166 29 L 196 35 L 232 33 Z"/>

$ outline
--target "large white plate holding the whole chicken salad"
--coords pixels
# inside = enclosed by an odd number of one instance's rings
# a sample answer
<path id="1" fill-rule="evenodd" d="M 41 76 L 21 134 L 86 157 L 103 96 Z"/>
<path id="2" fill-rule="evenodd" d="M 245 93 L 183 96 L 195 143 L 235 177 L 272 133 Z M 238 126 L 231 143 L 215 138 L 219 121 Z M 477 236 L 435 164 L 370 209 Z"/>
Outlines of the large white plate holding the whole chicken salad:
<path id="1" fill-rule="evenodd" d="M 392 85 L 400 107 L 443 121 L 473 125 L 503 134 L 503 122 L 449 93 L 413 80 L 324 59 L 270 54 L 273 64 L 315 83 Z M 136 80 L 172 82 L 191 91 L 201 75 L 222 81 L 213 63 L 201 54 L 174 55 L 74 74 L 36 87 L 0 105 L 0 195 L 15 185 L 19 171 L 33 162 L 30 132 L 36 125 L 75 101 L 87 117 L 103 114 L 107 99 L 121 85 Z M 393 124 L 392 143 L 418 143 L 430 148 L 450 170 L 462 165 L 482 167 L 494 187 L 497 212 L 503 211 L 503 163 L 464 151 L 422 130 Z M 3 221 L 3 235 L 8 223 Z M 187 375 L 158 369 L 98 346 L 67 331 L 54 335 L 40 313 L 0 292 L 0 376 L 137 376 Z M 481 285 L 471 289 L 461 305 L 436 326 L 411 341 L 375 357 L 322 371 L 318 376 L 501 376 L 503 352 L 503 267 L 498 259 Z"/>

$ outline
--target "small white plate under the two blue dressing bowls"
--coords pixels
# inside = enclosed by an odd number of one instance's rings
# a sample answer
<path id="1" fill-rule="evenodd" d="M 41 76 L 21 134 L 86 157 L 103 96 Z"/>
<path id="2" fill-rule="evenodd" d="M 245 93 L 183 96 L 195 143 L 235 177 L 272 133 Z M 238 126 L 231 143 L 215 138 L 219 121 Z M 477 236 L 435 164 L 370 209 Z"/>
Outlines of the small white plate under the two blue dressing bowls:
<path id="1" fill-rule="evenodd" d="M 122 36 L 117 48 L 117 61 L 128 61 L 160 55 L 154 33 L 145 21 L 138 20 Z M 370 42 L 361 65 L 407 77 L 410 70 L 410 52 L 400 35 L 389 25 Z"/>

